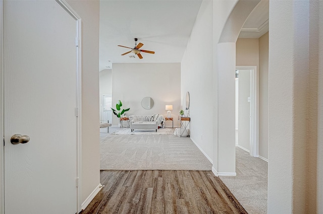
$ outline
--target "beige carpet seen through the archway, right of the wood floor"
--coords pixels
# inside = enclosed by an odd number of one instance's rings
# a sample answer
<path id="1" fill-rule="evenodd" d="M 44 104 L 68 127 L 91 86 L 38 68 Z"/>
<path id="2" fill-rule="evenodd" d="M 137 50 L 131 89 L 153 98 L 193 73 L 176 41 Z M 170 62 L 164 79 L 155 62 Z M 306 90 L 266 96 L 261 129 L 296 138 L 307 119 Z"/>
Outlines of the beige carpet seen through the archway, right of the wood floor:
<path id="1" fill-rule="evenodd" d="M 249 214 L 267 213 L 268 163 L 236 147 L 237 176 L 219 176 Z"/>

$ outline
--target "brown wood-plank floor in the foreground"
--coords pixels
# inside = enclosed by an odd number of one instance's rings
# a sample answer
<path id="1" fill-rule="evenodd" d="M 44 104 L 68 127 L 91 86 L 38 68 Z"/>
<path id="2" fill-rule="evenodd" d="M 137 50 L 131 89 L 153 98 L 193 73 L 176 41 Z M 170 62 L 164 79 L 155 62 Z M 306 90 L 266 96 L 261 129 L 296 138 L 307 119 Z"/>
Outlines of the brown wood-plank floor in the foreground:
<path id="1" fill-rule="evenodd" d="M 82 214 L 247 213 L 211 171 L 101 171 L 102 190 Z"/>

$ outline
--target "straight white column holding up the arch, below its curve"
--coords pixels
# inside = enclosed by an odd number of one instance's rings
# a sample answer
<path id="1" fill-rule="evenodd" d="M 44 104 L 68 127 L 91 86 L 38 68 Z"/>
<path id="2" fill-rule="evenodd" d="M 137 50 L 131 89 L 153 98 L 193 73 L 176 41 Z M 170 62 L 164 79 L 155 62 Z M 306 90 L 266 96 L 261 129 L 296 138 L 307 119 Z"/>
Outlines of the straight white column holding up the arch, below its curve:
<path id="1" fill-rule="evenodd" d="M 219 175 L 236 175 L 235 150 L 235 77 L 236 43 L 218 46 L 218 154 Z"/>

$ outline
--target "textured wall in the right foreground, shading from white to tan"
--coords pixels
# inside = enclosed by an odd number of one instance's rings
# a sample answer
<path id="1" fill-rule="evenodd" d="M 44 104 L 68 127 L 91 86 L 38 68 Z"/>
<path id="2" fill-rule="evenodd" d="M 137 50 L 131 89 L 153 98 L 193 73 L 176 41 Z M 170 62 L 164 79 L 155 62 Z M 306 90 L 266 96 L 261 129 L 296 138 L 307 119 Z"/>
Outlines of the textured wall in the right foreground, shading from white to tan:
<path id="1" fill-rule="evenodd" d="M 323 213 L 323 2 L 270 1 L 268 213 Z"/>

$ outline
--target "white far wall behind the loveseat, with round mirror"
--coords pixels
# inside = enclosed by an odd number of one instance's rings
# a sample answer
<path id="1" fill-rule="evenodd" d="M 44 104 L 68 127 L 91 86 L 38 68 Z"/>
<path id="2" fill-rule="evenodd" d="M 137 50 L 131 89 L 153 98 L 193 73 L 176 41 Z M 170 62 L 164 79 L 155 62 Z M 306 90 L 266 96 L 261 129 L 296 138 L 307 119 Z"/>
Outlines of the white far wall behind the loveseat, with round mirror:
<path id="1" fill-rule="evenodd" d="M 112 103 L 121 100 L 123 108 L 130 108 L 126 114 L 163 114 L 165 105 L 173 105 L 172 117 L 177 125 L 181 109 L 181 66 L 180 63 L 114 63 L 112 70 Z M 146 110 L 141 106 L 144 97 L 151 97 L 154 106 Z M 185 107 L 185 105 L 184 105 Z M 114 115 L 114 118 L 117 118 Z M 117 126 L 118 120 L 113 124 Z M 167 123 L 167 126 L 171 126 Z"/>

